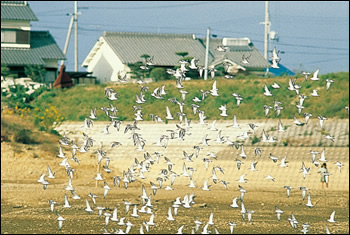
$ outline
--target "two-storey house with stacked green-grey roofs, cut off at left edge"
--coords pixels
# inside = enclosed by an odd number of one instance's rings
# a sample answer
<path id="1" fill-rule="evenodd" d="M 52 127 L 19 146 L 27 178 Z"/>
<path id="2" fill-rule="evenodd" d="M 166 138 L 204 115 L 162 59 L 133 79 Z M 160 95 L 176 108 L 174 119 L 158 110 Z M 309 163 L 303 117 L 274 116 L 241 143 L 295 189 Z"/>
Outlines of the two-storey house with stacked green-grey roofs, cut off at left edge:
<path id="1" fill-rule="evenodd" d="M 49 31 L 31 30 L 32 21 L 38 19 L 27 1 L 1 1 L 1 65 L 15 77 L 25 77 L 26 66 L 42 66 L 43 82 L 52 84 L 65 56 Z"/>

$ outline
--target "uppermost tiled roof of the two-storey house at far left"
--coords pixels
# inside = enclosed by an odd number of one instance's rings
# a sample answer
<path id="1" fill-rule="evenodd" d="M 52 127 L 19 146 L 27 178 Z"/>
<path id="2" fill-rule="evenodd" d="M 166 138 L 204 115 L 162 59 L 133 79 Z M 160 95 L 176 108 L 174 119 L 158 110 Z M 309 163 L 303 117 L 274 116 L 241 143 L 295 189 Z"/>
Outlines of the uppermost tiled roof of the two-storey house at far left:
<path id="1" fill-rule="evenodd" d="M 1 20 L 38 21 L 26 1 L 1 1 Z"/>

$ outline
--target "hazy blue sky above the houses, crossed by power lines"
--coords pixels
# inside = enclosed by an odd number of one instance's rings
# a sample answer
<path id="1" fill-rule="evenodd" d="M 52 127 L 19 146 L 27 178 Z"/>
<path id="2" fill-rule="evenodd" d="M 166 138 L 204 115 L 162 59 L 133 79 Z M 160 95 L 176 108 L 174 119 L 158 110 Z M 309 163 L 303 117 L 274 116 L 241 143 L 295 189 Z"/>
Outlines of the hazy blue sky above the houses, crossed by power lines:
<path id="1" fill-rule="evenodd" d="M 32 30 L 50 31 L 64 48 L 74 1 L 28 1 Z M 264 54 L 265 1 L 78 1 L 78 71 L 104 31 L 248 37 Z M 292 71 L 349 71 L 348 1 L 269 1 L 280 63 Z M 65 62 L 74 71 L 74 27 Z"/>

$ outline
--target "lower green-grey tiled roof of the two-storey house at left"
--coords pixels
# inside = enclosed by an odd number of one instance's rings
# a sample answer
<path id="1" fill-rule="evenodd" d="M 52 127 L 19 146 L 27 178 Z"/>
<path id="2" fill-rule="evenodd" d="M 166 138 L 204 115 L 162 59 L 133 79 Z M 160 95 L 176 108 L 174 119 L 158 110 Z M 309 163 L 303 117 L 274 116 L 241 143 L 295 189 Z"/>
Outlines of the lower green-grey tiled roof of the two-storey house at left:
<path id="1" fill-rule="evenodd" d="M 63 60 L 65 56 L 49 31 L 31 31 L 30 48 L 1 48 L 1 63 L 5 65 L 45 65 L 44 59 Z"/>

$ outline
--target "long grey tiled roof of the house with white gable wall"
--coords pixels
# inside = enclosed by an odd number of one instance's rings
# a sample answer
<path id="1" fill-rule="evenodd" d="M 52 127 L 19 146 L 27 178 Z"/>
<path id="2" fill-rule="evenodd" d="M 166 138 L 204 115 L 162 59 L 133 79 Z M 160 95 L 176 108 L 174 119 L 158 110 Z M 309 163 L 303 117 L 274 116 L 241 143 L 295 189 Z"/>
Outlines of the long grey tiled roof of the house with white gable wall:
<path id="1" fill-rule="evenodd" d="M 195 57 L 199 64 L 204 65 L 206 40 L 194 39 L 192 34 L 104 32 L 102 36 L 124 64 L 144 61 L 141 56 L 148 54 L 154 56 L 156 65 L 174 66 L 181 59 L 176 52 L 188 52 L 187 56 Z M 241 64 L 242 55 L 249 54 L 250 64 L 244 67 L 263 68 L 269 65 L 252 44 L 230 46 L 226 52 L 216 51 L 219 45 L 222 45 L 222 39 L 210 39 L 209 65 L 226 58 Z"/>

